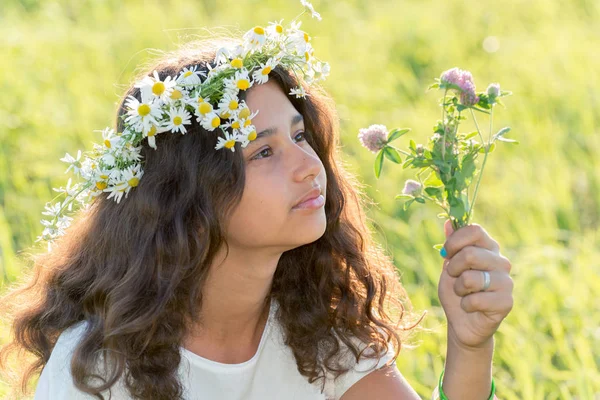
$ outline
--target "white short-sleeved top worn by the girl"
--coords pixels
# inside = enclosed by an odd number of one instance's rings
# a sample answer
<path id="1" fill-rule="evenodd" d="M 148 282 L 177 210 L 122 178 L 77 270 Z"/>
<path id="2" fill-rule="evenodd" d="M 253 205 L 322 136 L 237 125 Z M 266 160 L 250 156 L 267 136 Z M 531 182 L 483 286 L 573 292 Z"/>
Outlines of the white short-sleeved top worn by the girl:
<path id="1" fill-rule="evenodd" d="M 256 354 L 241 364 L 223 364 L 203 358 L 183 346 L 182 363 L 178 374 L 185 388 L 185 399 L 223 399 L 223 400 L 332 400 L 339 399 L 355 382 L 375 368 L 382 367 L 393 358 L 394 349 L 377 359 L 355 359 L 345 344 L 347 360 L 353 369 L 341 375 L 337 380 L 326 380 L 325 391 L 321 393 L 322 380 L 308 383 L 305 376 L 298 372 L 296 360 L 291 349 L 284 345 L 283 334 L 274 313 L 277 303 L 271 301 L 271 309 Z M 81 321 L 58 338 L 48 363 L 45 365 L 35 391 L 34 400 L 91 400 L 95 397 L 79 391 L 73 385 L 70 374 L 70 359 L 73 350 L 85 330 L 86 321 Z M 355 343 L 360 343 L 355 341 Z M 365 346 L 361 344 L 359 349 Z M 108 391 L 103 392 L 106 399 Z M 111 388 L 112 399 L 131 399 L 122 381 Z"/>

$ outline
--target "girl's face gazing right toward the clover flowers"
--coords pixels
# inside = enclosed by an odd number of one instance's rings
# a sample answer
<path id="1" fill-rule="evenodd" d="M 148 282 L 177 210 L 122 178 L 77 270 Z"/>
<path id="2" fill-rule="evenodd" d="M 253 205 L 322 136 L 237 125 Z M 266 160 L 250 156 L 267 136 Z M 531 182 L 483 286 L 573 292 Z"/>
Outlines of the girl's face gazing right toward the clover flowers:
<path id="1" fill-rule="evenodd" d="M 248 90 L 246 103 L 258 137 L 242 149 L 246 185 L 227 226 L 227 239 L 239 248 L 273 253 L 314 242 L 326 227 L 325 207 L 294 206 L 311 189 L 326 197 L 321 160 L 305 139 L 302 116 L 274 81 Z M 261 137 L 268 130 L 270 135 Z"/>

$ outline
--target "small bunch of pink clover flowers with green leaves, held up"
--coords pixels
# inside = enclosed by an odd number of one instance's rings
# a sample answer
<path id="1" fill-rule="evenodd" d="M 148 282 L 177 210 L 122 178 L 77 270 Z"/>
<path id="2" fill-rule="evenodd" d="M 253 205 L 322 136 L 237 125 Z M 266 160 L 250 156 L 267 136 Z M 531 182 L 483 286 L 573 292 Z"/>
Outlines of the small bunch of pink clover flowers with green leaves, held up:
<path id="1" fill-rule="evenodd" d="M 488 154 L 494 151 L 496 142 L 519 143 L 504 137 L 510 130 L 509 127 L 500 129 L 492 136 L 494 106 L 497 104 L 504 106 L 500 98 L 511 95 L 512 92 L 500 90 L 498 83 L 490 84 L 485 92 L 476 92 L 471 73 L 458 68 L 445 71 L 435 81 L 427 90 L 443 91 L 444 95 L 440 102 L 442 119 L 434 125 L 434 134 L 426 145 L 416 144 L 411 139 L 407 151 L 400 150 L 392 146 L 391 142 L 408 133 L 410 129 L 393 129 L 388 132 L 384 125 L 378 124 L 360 129 L 358 138 L 364 147 L 377 153 L 375 157 L 377 178 L 381 174 L 385 158 L 396 164 L 402 164 L 404 169 L 407 167 L 419 169 L 417 180 L 407 180 L 402 194 L 396 196 L 396 199 L 406 199 L 405 210 L 414 202 L 431 201 L 444 210 L 438 214 L 438 217 L 450 219 L 452 227 L 457 230 L 469 225 L 472 220 L 481 174 Z M 489 115 L 487 140 L 483 138 L 474 111 Z M 473 118 L 476 128 L 473 132 L 459 132 L 461 121 L 467 119 L 465 113 L 469 113 Z M 404 160 L 401 154 L 405 156 Z M 483 154 L 483 162 L 478 173 L 476 160 L 480 154 Z M 422 178 L 425 172 L 428 174 Z M 469 191 L 476 175 L 478 178 L 475 191 L 470 198 Z M 439 250 L 441 246 L 434 247 Z"/>

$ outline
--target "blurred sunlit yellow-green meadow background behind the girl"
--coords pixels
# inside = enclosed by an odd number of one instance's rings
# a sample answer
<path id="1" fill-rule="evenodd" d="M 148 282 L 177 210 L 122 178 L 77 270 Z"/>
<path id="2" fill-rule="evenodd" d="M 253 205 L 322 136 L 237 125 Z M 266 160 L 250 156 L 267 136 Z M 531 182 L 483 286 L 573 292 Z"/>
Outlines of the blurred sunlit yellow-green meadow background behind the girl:
<path id="1" fill-rule="evenodd" d="M 313 4 L 323 21 L 307 17 L 302 28 L 331 65 L 324 86 L 338 105 L 344 158 L 377 203 L 368 210 L 374 232 L 414 308 L 428 310 L 432 332 L 400 353 L 400 371 L 429 398 L 444 365 L 442 259 L 432 248 L 445 240 L 443 220 L 433 204 L 405 211 L 394 196 L 415 171 L 386 162 L 376 179 L 357 134 L 380 123 L 412 128 L 398 147 L 426 143 L 441 96 L 426 88 L 456 66 L 473 73 L 478 90 L 499 82 L 513 92 L 496 108 L 494 130 L 510 126 L 507 137 L 520 141 L 490 154 L 474 218 L 513 265 L 515 304 L 496 334 L 498 397 L 600 399 L 600 2 Z M 1 290 L 39 250 L 44 204 L 68 179 L 59 158 L 99 142 L 93 131 L 114 121 L 139 64 L 222 26 L 287 23 L 300 11 L 292 0 L 2 0 Z M 464 126 L 474 130 L 470 118 Z M 0 321 L 0 343 L 9 322 Z"/>

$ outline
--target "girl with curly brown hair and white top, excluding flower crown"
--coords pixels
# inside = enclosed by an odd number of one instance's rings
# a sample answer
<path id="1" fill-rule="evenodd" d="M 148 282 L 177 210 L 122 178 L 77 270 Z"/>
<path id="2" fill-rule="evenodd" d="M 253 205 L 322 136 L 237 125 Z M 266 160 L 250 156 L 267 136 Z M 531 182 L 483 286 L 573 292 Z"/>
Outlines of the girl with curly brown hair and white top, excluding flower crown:
<path id="1" fill-rule="evenodd" d="M 235 43 L 191 43 L 142 76 L 206 76 Z M 307 95 L 291 95 L 297 87 Z M 127 90 L 118 132 L 143 91 Z M 41 371 L 36 400 L 419 399 L 394 360 L 422 317 L 370 238 L 333 102 L 281 65 L 239 96 L 256 129 L 247 146 L 216 150 L 195 119 L 182 134 L 148 130 L 139 185 L 118 202 L 98 196 L 4 298 L 14 341 L 2 359 L 35 356 L 23 392 Z M 510 264 L 481 227 L 450 233 L 443 389 L 486 399 Z M 489 288 L 476 269 L 491 272 Z"/>

